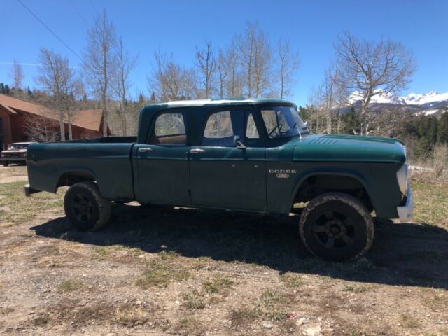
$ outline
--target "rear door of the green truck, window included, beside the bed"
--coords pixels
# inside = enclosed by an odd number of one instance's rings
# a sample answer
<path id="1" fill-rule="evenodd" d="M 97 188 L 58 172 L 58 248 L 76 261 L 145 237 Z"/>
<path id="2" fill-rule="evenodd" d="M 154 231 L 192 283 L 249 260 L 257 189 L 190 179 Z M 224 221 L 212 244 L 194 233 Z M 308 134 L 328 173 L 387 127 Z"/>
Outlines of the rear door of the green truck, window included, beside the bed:
<path id="1" fill-rule="evenodd" d="M 153 118 L 146 144 L 134 146 L 134 190 L 139 202 L 190 204 L 186 111 Z"/>

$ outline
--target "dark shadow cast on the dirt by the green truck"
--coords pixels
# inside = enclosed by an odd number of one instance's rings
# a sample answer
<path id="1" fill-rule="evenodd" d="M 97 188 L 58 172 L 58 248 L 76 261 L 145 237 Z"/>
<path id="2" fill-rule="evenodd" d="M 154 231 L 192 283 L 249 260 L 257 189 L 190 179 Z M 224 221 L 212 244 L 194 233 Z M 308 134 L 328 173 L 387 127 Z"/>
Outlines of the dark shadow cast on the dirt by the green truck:
<path id="1" fill-rule="evenodd" d="M 325 262 L 304 248 L 298 216 L 254 216 L 167 207 L 114 207 L 99 232 L 78 232 L 66 218 L 31 230 L 36 235 L 83 244 L 120 244 L 148 253 L 175 251 L 188 258 L 258 264 L 279 272 L 320 274 L 338 279 L 448 289 L 448 231 L 428 224 L 381 221 L 374 244 L 358 262 Z"/>

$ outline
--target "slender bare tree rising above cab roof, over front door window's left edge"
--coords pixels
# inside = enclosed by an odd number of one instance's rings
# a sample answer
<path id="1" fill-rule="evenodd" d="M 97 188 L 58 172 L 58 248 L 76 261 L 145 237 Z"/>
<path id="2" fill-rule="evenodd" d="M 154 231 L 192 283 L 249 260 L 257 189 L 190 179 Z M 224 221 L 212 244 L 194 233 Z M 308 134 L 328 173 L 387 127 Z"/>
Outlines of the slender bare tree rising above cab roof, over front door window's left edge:
<path id="1" fill-rule="evenodd" d="M 196 62 L 197 69 L 200 73 L 200 80 L 203 85 L 204 98 L 210 98 L 213 77 L 216 70 L 216 59 L 210 41 L 205 41 L 204 49 L 200 49 L 196 46 Z"/>

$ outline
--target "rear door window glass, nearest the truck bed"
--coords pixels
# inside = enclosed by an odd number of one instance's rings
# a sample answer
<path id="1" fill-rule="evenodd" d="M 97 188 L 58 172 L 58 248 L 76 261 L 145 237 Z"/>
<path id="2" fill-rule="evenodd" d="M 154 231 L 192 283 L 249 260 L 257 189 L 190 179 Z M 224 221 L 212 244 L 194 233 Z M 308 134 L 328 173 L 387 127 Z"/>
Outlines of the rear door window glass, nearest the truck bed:
<path id="1" fill-rule="evenodd" d="M 186 145 L 187 134 L 182 113 L 162 113 L 155 119 L 150 144 Z"/>

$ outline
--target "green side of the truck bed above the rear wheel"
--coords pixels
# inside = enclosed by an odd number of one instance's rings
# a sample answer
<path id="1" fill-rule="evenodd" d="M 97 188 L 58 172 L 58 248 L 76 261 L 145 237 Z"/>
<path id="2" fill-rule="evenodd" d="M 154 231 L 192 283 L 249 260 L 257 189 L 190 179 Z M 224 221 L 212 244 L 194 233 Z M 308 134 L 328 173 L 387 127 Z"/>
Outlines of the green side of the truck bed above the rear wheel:
<path id="1" fill-rule="evenodd" d="M 133 200 L 131 152 L 136 137 L 104 137 L 31 144 L 27 151 L 29 184 L 55 193 L 66 176 L 90 176 L 106 198 Z"/>

